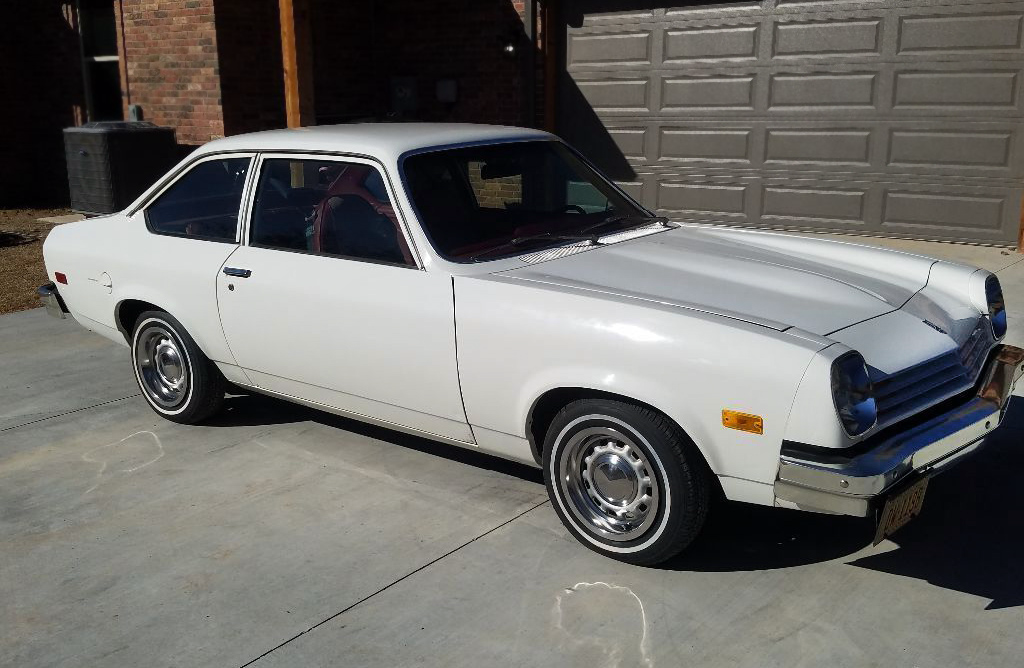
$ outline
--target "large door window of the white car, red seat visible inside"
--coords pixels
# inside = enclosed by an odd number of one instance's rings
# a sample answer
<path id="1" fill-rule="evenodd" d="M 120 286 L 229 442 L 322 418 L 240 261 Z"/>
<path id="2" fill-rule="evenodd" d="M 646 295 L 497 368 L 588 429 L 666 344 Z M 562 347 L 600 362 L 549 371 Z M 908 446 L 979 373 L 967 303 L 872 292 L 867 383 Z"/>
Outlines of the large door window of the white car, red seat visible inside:
<path id="1" fill-rule="evenodd" d="M 415 265 L 381 173 L 357 163 L 264 160 L 249 243 Z"/>

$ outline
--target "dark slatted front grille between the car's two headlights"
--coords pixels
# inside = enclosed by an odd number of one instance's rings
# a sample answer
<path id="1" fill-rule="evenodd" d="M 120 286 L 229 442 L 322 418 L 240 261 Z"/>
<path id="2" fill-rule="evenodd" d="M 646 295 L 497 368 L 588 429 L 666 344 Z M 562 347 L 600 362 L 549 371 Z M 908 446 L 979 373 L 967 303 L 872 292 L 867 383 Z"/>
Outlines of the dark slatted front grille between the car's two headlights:
<path id="1" fill-rule="evenodd" d="M 982 318 L 958 350 L 888 376 L 872 370 L 879 426 L 973 387 L 993 342 L 988 324 Z"/>

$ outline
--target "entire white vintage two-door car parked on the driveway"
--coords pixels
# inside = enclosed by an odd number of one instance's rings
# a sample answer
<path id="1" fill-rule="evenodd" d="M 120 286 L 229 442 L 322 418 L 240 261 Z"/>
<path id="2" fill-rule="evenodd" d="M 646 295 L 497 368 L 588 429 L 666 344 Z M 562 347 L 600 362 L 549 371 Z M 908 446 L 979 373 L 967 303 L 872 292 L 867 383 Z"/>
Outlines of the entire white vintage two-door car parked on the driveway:
<path id="1" fill-rule="evenodd" d="M 234 385 L 538 465 L 568 531 L 634 563 L 718 495 L 881 540 L 1024 362 L 989 272 L 673 223 L 518 128 L 218 139 L 44 254 L 50 312 L 127 345 L 167 419 Z"/>

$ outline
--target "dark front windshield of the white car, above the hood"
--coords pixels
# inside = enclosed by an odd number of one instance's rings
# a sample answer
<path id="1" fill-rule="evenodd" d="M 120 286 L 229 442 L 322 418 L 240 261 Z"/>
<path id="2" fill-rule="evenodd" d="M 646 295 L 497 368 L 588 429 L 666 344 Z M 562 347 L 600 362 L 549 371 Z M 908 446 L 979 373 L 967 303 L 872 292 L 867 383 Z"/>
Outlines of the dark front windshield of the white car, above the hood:
<path id="1" fill-rule="evenodd" d="M 402 163 L 434 248 L 478 262 L 605 235 L 650 215 L 558 141 L 434 151 Z"/>

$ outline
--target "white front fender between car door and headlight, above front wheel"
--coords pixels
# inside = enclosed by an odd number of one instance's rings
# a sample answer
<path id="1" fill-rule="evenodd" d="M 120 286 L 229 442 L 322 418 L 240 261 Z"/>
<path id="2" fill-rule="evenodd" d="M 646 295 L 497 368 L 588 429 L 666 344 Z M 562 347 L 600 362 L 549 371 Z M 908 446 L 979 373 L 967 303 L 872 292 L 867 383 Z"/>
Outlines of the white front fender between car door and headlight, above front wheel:
<path id="1" fill-rule="evenodd" d="M 525 439 L 540 396 L 581 387 L 662 411 L 718 475 L 770 484 L 797 386 L 821 347 L 740 321 L 507 277 L 456 277 L 455 293 L 463 399 L 482 449 L 482 429 Z M 725 428 L 723 409 L 762 416 L 764 433 Z"/>

